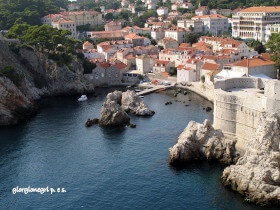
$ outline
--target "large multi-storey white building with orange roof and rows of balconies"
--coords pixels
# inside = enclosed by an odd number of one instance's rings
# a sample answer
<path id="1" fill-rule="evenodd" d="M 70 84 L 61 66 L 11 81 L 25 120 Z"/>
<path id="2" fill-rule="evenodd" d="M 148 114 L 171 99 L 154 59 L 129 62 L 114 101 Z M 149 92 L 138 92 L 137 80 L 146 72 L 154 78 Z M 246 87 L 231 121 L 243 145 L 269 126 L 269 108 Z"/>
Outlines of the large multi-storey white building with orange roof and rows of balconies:
<path id="1" fill-rule="evenodd" d="M 250 7 L 232 16 L 232 36 L 266 42 L 274 33 L 267 25 L 274 24 L 280 24 L 280 6 Z"/>

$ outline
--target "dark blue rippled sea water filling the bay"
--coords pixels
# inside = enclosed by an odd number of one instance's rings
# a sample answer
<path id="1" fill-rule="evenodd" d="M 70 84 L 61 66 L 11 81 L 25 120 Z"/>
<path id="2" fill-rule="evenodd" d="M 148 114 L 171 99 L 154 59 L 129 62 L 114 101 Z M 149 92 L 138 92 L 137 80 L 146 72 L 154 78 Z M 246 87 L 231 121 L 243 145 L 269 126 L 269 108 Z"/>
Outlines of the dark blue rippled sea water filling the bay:
<path id="1" fill-rule="evenodd" d="M 36 116 L 0 129 L 1 209 L 257 208 L 221 184 L 219 164 L 168 164 L 168 148 L 189 121 L 213 120 L 203 110 L 210 102 L 195 94 L 174 98 L 172 90 L 150 94 L 144 100 L 156 114 L 131 116 L 136 128 L 86 128 L 108 91 L 98 89 L 83 103 L 76 96 L 44 99 Z M 13 194 L 17 186 L 66 192 Z"/>

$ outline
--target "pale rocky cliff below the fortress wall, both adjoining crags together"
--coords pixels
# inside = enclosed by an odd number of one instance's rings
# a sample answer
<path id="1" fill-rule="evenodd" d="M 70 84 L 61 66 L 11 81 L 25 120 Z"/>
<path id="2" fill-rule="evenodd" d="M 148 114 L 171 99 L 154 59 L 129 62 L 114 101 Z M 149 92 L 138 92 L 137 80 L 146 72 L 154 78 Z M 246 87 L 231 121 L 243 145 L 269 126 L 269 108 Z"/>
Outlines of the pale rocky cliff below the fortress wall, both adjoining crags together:
<path id="1" fill-rule="evenodd" d="M 169 149 L 171 164 L 187 164 L 195 159 L 219 160 L 233 164 L 225 168 L 225 186 L 260 205 L 280 205 L 280 115 L 263 114 L 257 131 L 242 157 L 235 156 L 234 139 L 215 130 L 210 121 L 191 121 Z M 235 163 L 235 164 L 234 164 Z"/>

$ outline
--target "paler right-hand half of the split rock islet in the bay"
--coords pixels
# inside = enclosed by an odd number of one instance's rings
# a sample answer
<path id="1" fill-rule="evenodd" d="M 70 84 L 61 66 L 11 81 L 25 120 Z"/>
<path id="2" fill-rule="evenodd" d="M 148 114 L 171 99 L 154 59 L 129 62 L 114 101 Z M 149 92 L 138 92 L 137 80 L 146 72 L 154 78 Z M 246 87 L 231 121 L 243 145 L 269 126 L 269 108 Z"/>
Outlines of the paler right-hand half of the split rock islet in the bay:
<path id="1" fill-rule="evenodd" d="M 128 90 L 122 93 L 121 106 L 127 113 L 138 116 L 152 116 L 154 111 L 134 91 Z"/>

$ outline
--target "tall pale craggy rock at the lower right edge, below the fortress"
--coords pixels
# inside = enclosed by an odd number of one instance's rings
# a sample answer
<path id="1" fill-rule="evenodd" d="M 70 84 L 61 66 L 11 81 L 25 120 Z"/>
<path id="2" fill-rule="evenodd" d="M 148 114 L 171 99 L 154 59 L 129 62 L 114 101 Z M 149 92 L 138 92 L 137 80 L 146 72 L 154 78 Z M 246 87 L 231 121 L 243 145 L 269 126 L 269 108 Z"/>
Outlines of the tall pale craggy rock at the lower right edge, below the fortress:
<path id="1" fill-rule="evenodd" d="M 246 152 L 227 167 L 223 183 L 258 204 L 280 205 L 280 117 L 264 115 Z"/>

